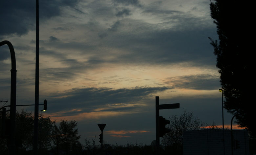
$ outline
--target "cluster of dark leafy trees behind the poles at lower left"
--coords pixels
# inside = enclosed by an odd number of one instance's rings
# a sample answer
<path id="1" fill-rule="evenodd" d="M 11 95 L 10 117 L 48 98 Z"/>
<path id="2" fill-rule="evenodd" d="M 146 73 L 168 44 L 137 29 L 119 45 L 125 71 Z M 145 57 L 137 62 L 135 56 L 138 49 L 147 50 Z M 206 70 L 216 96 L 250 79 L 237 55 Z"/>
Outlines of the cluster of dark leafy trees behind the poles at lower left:
<path id="1" fill-rule="evenodd" d="M 10 120 L 10 113 L 6 113 L 6 120 Z M 61 120 L 59 126 L 55 121 L 51 121 L 50 117 L 39 117 L 38 120 L 38 152 L 41 155 L 52 154 L 59 155 L 65 153 L 67 155 L 84 154 L 83 146 L 78 141 L 78 129 L 76 129 L 76 121 Z M 33 154 L 33 129 L 34 116 L 32 112 L 22 110 L 21 113 L 16 112 L 15 121 L 15 146 L 19 155 Z M 0 112 L 0 134 L 2 134 L 2 112 Z M 40 131 L 41 128 L 41 131 Z M 8 130 L 8 127 L 6 127 Z M 6 135 L 8 135 L 6 133 Z M 40 143 L 41 142 L 41 143 Z M 0 137 L 0 154 L 8 154 L 8 138 Z M 39 147 L 41 145 L 41 148 Z"/>

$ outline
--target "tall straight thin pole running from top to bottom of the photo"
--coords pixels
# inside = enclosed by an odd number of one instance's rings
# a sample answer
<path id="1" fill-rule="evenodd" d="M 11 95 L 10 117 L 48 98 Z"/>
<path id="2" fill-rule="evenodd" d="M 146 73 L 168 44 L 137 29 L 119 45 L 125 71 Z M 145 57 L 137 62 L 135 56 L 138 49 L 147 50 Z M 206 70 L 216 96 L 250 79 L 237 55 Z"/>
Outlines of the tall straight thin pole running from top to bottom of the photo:
<path id="1" fill-rule="evenodd" d="M 36 0 L 36 35 L 35 35 L 35 114 L 34 114 L 34 155 L 38 145 L 38 106 L 39 106 L 39 2 Z"/>

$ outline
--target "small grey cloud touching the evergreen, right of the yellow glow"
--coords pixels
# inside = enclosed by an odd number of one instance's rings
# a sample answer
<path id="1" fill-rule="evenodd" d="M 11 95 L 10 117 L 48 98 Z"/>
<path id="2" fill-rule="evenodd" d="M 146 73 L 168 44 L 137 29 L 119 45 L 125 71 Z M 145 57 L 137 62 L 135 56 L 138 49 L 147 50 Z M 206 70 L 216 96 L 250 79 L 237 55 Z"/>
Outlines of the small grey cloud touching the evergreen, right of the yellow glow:
<path id="1" fill-rule="evenodd" d="M 217 90 L 220 88 L 220 77 L 211 74 L 168 77 L 164 83 L 179 89 Z"/>

